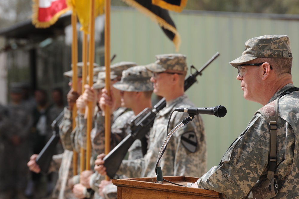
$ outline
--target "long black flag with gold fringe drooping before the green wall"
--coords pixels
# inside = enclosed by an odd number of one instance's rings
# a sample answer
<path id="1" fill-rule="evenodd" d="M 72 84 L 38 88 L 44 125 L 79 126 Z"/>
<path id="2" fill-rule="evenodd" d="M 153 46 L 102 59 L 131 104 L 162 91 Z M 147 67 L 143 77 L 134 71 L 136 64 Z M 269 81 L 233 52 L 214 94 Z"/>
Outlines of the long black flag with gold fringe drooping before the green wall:
<path id="1" fill-rule="evenodd" d="M 179 51 L 181 39 L 176 25 L 171 19 L 168 10 L 153 5 L 151 0 L 122 0 L 132 7 L 135 7 L 141 13 L 149 16 L 153 21 L 157 22 L 166 36 L 173 42 L 176 51 Z"/>

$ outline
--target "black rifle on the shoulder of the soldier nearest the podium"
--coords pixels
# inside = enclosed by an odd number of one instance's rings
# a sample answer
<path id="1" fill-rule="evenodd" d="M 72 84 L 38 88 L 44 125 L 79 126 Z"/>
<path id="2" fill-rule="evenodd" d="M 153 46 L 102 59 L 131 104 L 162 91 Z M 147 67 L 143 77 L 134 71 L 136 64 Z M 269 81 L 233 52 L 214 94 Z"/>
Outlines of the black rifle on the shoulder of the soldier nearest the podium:
<path id="1" fill-rule="evenodd" d="M 219 52 L 217 52 L 201 69 L 196 70 L 185 78 L 184 82 L 184 90 L 186 91 L 193 83 L 196 82 L 196 76 L 202 75 L 202 71 L 213 61 L 216 57 L 219 56 Z M 191 66 L 191 69 L 195 69 L 194 66 Z M 107 175 L 112 179 L 115 176 L 116 171 L 118 170 L 121 161 L 126 156 L 127 151 L 130 146 L 136 139 L 140 139 L 142 142 L 142 152 L 146 153 L 147 145 L 145 135 L 149 132 L 150 128 L 154 124 L 154 119 L 156 114 L 162 110 L 166 106 L 165 98 L 162 98 L 153 109 L 146 108 L 137 116 L 135 116 L 132 120 L 129 121 L 129 125 L 131 127 L 132 133 L 127 135 L 106 157 L 103 158 L 105 161 L 104 166 L 106 167 Z M 144 142 L 145 140 L 145 142 Z"/>

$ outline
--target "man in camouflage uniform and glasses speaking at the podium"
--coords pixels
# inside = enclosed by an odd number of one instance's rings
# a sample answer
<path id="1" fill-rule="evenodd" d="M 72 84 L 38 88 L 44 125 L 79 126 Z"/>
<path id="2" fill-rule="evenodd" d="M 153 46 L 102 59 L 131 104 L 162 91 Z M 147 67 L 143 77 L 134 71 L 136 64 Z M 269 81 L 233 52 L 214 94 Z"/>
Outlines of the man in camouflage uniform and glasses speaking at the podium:
<path id="1" fill-rule="evenodd" d="M 299 88 L 292 82 L 292 59 L 288 36 L 265 35 L 248 40 L 242 56 L 230 62 L 244 98 L 263 107 L 219 166 L 191 187 L 227 198 L 299 197 Z"/>

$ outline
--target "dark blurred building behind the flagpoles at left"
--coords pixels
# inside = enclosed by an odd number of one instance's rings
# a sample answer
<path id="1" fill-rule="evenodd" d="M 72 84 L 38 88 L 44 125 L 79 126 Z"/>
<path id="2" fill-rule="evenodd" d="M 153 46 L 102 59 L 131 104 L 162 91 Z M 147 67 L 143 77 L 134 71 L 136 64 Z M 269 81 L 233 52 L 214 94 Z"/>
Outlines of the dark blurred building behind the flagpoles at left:
<path id="1" fill-rule="evenodd" d="M 104 66 L 104 20 L 96 19 L 95 62 Z M 98 27 L 102 26 L 102 27 Z M 82 60 L 82 31 L 77 24 L 78 61 Z M 69 90 L 69 79 L 63 72 L 71 70 L 71 14 L 61 16 L 49 28 L 35 28 L 31 19 L 0 30 L 4 45 L 0 48 L 2 72 L 1 95 L 6 93 L 9 101 L 9 88 L 14 82 L 27 82 L 31 90 L 40 88 L 51 92 L 60 87 L 64 95 Z M 3 93 L 4 92 L 4 93 Z M 51 100 L 51 99 L 49 99 Z M 65 99 L 66 100 L 66 99 Z M 2 100 L 3 101 L 3 100 Z M 4 100 L 5 101 L 5 100 Z"/>

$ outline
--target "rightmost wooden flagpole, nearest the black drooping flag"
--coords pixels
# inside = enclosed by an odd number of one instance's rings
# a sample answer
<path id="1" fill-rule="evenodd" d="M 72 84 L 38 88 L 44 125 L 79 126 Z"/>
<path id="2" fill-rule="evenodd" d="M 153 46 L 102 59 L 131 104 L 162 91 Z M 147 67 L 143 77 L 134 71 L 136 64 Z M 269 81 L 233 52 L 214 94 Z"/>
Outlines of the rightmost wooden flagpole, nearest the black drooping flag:
<path id="1" fill-rule="evenodd" d="M 110 94 L 110 0 L 105 0 L 105 67 L 106 67 L 106 78 L 105 85 L 107 94 Z M 105 110 L 105 154 L 110 152 L 110 107 L 106 106 Z M 109 177 L 106 176 L 106 180 Z"/>

